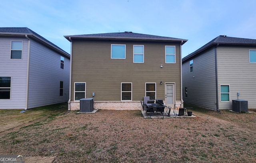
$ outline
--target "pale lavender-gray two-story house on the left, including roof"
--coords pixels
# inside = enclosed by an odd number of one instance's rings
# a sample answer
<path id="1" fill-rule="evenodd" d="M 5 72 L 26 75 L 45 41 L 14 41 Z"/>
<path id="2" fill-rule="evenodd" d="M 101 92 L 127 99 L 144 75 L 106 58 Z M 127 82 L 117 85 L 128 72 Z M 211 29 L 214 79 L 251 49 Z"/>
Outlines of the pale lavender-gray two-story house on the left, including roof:
<path id="1" fill-rule="evenodd" d="M 67 102 L 70 55 L 27 27 L 0 27 L 0 109 Z"/>

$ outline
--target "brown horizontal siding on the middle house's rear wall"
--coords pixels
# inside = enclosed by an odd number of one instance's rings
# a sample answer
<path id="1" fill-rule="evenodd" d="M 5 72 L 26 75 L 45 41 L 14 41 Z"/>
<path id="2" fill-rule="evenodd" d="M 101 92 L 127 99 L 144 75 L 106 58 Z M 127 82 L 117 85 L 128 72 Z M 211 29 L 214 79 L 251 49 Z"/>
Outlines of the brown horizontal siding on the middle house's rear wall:
<path id="1" fill-rule="evenodd" d="M 110 59 L 111 44 L 125 44 L 126 59 Z M 144 63 L 133 63 L 133 45 L 144 45 Z M 176 45 L 176 64 L 165 63 L 165 45 Z M 176 100 L 181 100 L 180 44 L 74 40 L 72 100 L 74 82 L 86 82 L 86 98 L 95 92 L 95 101 L 121 101 L 121 82 L 132 82 L 133 101 L 143 99 L 146 82 L 156 82 L 156 97 L 164 99 L 164 83 L 175 82 Z"/>

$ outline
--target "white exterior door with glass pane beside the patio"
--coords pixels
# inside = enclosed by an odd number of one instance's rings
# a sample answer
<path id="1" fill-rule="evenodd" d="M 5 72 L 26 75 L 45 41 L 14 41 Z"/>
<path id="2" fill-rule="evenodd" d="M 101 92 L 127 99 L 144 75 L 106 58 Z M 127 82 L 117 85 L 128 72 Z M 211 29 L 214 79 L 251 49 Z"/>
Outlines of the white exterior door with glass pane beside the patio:
<path id="1" fill-rule="evenodd" d="M 175 88 L 174 84 L 165 84 L 165 105 L 174 107 Z"/>

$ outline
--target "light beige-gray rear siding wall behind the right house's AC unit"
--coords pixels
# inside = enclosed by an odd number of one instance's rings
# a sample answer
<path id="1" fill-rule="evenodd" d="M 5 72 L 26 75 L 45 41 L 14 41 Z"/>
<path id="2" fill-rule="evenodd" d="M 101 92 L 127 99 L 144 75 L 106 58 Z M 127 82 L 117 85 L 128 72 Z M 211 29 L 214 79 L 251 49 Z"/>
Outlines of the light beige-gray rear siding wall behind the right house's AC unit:
<path id="1" fill-rule="evenodd" d="M 248 108 L 256 108 L 256 63 L 249 63 L 249 49 L 256 46 L 217 48 L 219 108 L 232 109 L 232 100 L 248 100 Z M 230 85 L 230 101 L 220 102 L 220 85 Z"/>

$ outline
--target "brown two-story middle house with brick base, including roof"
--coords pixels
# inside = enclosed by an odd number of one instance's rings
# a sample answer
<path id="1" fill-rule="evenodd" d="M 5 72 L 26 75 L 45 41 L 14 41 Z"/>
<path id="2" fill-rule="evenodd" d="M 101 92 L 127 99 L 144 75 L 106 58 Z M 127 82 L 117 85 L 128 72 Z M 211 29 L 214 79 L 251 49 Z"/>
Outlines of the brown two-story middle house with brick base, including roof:
<path id="1" fill-rule="evenodd" d="M 64 36 L 71 42 L 69 109 L 137 110 L 144 96 L 182 103 L 181 46 L 186 39 L 133 32 Z"/>

